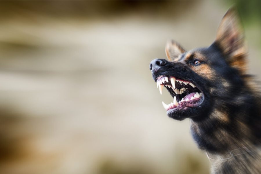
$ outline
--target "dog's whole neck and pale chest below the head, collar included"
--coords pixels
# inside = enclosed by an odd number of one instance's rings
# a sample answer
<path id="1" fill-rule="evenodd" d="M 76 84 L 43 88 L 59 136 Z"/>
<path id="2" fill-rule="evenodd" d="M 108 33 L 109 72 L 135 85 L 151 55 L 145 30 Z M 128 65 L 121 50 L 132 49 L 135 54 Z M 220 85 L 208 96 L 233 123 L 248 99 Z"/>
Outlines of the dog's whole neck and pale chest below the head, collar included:
<path id="1" fill-rule="evenodd" d="M 259 101 L 260 98 L 250 98 L 244 106 L 227 104 L 212 110 L 204 119 L 191 119 L 191 134 L 207 153 L 212 173 L 260 173 Z"/>

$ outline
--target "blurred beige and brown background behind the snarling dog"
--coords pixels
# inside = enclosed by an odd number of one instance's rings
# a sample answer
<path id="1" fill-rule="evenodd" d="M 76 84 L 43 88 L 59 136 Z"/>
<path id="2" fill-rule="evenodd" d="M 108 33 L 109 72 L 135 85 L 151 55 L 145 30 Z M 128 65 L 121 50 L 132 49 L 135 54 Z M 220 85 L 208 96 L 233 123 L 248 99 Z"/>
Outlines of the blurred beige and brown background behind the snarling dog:
<path id="1" fill-rule="evenodd" d="M 149 63 L 209 46 L 232 4 L 260 80 L 259 0 L 0 1 L 0 173 L 209 173 Z"/>

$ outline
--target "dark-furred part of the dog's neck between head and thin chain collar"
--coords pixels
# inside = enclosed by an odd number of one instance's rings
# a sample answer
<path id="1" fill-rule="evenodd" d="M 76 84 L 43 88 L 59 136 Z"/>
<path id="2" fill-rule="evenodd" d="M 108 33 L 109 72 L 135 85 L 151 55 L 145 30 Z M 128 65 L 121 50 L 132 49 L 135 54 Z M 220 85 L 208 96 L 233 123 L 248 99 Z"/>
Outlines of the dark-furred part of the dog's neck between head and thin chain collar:
<path id="1" fill-rule="evenodd" d="M 202 116 L 201 120 L 191 119 L 191 134 L 200 149 L 221 155 L 260 144 L 261 99 L 242 95 L 234 100 L 243 102 L 226 103 Z"/>

